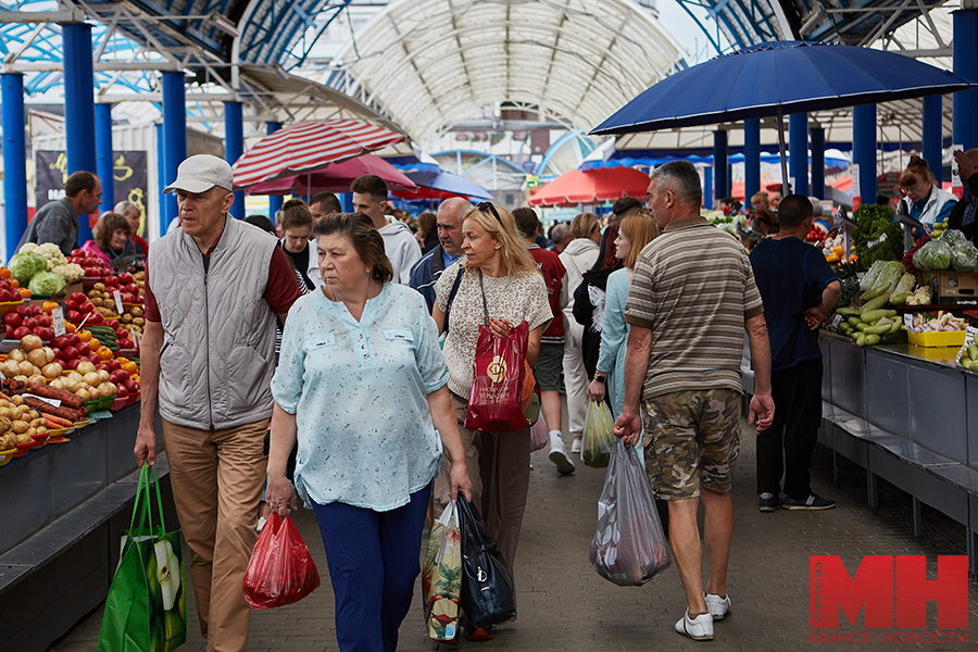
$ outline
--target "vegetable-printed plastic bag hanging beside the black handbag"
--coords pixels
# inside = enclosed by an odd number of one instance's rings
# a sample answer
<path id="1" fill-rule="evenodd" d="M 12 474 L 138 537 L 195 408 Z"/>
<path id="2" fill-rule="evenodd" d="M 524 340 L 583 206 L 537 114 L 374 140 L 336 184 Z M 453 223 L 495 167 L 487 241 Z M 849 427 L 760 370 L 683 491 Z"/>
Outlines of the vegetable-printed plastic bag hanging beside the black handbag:
<path id="1" fill-rule="evenodd" d="M 462 535 L 459 507 L 452 502 L 431 526 L 422 593 L 425 597 L 425 624 L 431 640 L 450 642 L 459 635 L 462 615 Z"/>

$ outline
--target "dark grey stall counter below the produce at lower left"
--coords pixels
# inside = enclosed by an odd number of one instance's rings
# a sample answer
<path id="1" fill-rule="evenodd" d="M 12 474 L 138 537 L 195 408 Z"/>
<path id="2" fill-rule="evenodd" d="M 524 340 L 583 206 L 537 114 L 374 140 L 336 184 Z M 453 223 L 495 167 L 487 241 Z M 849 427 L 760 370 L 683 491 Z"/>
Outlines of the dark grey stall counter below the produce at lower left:
<path id="1" fill-rule="evenodd" d="M 45 652 L 109 592 L 138 471 L 140 404 L 0 467 L 0 652 Z M 158 432 L 162 431 L 158 425 Z M 156 468 L 176 522 L 163 440 Z"/>

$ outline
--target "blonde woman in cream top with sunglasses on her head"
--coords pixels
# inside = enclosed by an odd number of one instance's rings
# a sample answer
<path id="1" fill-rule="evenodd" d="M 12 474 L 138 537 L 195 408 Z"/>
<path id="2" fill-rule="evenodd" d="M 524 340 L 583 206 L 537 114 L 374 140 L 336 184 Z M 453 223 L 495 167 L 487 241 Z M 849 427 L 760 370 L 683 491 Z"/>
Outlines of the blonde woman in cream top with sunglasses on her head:
<path id="1" fill-rule="evenodd" d="M 447 331 L 448 387 L 472 480 L 472 501 L 512 569 L 529 487 L 529 427 L 515 432 L 481 432 L 464 427 L 476 342 L 482 324 L 488 324 L 496 337 L 506 337 L 510 326 L 527 322 L 526 361 L 534 366 L 540 337 L 553 313 L 543 277 L 507 211 L 484 202 L 463 213 L 462 251 L 465 258 L 442 272 L 435 284 L 432 316 L 439 330 Z M 450 501 L 447 480 L 451 466 L 444 460 L 435 480 L 436 515 Z M 469 640 L 491 638 L 491 628 L 468 631 Z"/>

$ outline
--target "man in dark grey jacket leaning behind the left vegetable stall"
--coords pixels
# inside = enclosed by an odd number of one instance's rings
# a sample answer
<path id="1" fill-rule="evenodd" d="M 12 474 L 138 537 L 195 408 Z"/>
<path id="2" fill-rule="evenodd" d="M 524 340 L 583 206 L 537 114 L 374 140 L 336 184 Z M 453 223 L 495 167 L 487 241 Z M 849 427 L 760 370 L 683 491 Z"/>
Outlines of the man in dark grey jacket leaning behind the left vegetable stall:
<path id="1" fill-rule="evenodd" d="M 78 171 L 64 184 L 65 198 L 46 203 L 35 214 L 21 238 L 25 242 L 53 242 L 64 255 L 78 247 L 79 215 L 93 213 L 102 202 L 102 183 L 90 172 Z M 20 249 L 20 246 L 17 247 Z"/>

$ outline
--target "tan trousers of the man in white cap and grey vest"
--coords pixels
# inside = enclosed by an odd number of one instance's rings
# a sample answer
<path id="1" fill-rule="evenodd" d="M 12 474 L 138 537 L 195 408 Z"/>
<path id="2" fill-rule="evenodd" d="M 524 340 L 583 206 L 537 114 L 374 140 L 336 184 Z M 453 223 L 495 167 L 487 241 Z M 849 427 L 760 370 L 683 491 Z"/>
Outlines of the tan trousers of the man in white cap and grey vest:
<path id="1" fill-rule="evenodd" d="M 256 539 L 269 419 L 199 430 L 163 419 L 173 498 L 190 547 L 190 579 L 209 652 L 244 652 L 251 607 L 241 582 Z"/>

